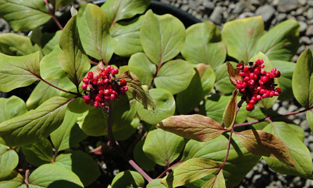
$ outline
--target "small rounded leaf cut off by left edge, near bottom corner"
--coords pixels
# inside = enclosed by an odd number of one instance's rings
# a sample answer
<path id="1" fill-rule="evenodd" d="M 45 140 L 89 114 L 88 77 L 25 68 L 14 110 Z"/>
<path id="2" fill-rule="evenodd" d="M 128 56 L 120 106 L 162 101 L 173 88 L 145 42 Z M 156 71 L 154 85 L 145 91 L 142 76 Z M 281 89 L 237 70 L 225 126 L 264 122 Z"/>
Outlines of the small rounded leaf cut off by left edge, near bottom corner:
<path id="1" fill-rule="evenodd" d="M 16 151 L 0 144 L 0 185 L 1 178 L 9 176 L 18 164 L 19 156 Z"/>

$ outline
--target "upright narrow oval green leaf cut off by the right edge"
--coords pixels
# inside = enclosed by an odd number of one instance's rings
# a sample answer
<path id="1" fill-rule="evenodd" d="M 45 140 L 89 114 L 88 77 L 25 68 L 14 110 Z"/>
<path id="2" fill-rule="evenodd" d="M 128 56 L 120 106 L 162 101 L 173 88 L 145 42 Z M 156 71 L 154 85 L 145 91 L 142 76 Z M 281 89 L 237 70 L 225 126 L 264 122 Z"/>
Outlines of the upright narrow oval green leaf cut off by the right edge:
<path id="1" fill-rule="evenodd" d="M 301 53 L 292 75 L 292 92 L 305 108 L 313 104 L 313 57 L 308 48 Z"/>

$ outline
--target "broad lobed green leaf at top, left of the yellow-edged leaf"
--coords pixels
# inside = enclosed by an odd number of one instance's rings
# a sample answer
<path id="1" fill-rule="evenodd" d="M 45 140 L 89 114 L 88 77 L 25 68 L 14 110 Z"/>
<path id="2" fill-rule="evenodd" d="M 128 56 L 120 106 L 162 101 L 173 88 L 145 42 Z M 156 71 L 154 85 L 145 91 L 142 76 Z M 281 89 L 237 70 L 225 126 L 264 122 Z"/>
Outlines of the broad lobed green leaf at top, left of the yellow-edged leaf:
<path id="1" fill-rule="evenodd" d="M 220 38 L 220 31 L 213 22 L 196 23 L 186 29 L 181 54 L 189 63 L 209 64 L 215 69 L 226 58 L 226 47 L 219 42 Z"/>

